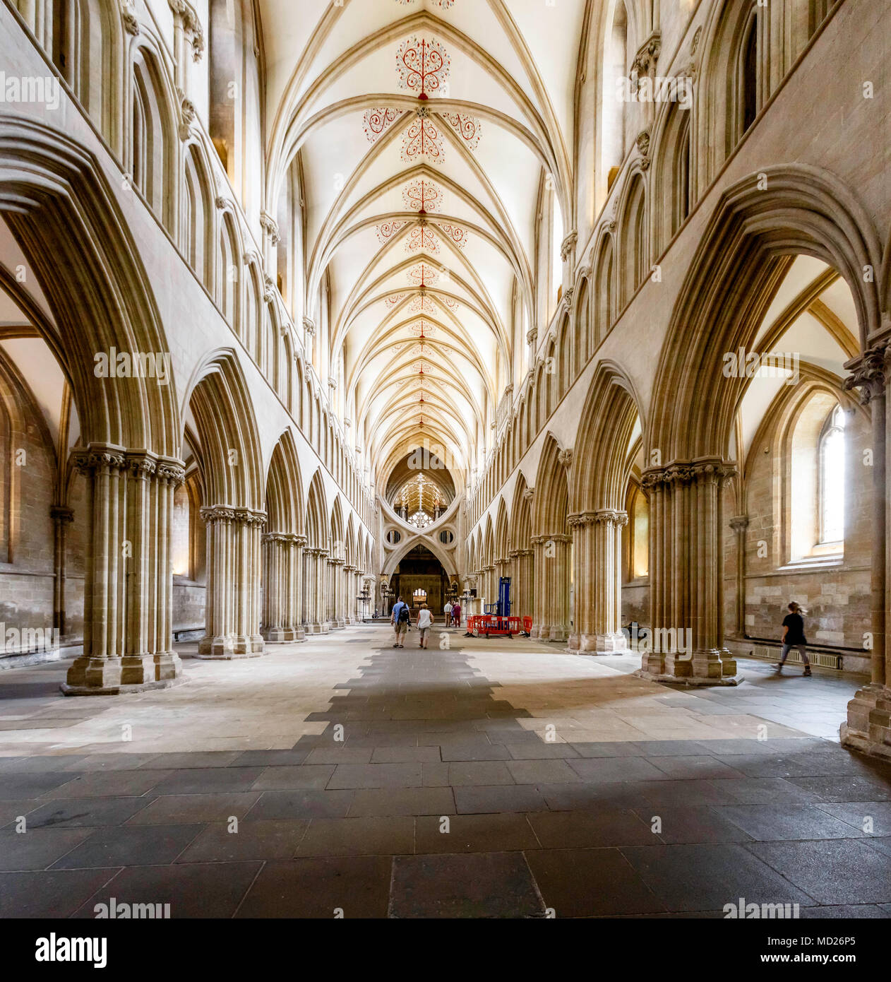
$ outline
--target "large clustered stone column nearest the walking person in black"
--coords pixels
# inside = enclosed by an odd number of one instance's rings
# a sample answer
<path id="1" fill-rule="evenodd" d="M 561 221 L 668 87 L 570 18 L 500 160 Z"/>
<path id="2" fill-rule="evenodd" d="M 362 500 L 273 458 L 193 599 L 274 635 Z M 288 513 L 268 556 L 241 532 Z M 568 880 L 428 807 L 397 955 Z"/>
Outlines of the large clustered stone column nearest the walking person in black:
<path id="1" fill-rule="evenodd" d="M 691 685 L 736 685 L 724 647 L 721 488 L 735 473 L 719 458 L 644 472 L 650 492 L 652 624 L 638 675 Z"/>

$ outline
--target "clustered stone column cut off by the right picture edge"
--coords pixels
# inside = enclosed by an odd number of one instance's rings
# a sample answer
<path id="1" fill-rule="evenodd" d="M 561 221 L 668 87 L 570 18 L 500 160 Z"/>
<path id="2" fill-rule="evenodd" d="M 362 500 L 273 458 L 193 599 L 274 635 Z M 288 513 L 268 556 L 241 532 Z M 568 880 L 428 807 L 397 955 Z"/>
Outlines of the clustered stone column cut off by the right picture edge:
<path id="1" fill-rule="evenodd" d="M 884 341 L 848 362 L 852 375 L 845 388 L 861 390 L 872 423 L 872 561 L 870 573 L 870 680 L 848 703 L 840 736 L 845 746 L 891 757 L 891 626 L 887 590 L 887 386 L 891 381 L 891 343 Z"/>

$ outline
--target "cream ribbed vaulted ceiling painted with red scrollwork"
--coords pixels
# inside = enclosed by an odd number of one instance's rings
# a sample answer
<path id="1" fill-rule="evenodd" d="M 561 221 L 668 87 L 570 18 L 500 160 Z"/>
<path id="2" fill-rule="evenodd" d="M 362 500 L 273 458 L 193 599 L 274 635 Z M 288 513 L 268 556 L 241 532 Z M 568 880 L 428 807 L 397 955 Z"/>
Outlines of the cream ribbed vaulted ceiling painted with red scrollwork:
<path id="1" fill-rule="evenodd" d="M 491 445 L 534 321 L 544 186 L 572 227 L 585 9 L 260 0 L 267 199 L 299 175 L 306 312 L 329 291 L 326 363 L 342 355 L 379 486 L 424 437 L 464 477 Z"/>

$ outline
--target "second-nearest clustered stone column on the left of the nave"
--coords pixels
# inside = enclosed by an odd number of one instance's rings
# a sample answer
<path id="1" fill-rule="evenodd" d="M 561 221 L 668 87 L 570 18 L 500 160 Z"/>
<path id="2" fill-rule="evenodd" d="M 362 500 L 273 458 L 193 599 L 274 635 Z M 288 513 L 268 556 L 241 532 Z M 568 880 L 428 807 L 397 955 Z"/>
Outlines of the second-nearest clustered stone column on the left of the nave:
<path id="1" fill-rule="evenodd" d="M 255 658 L 260 633 L 260 535 L 266 513 L 249 508 L 201 509 L 207 526 L 207 633 L 199 658 Z"/>

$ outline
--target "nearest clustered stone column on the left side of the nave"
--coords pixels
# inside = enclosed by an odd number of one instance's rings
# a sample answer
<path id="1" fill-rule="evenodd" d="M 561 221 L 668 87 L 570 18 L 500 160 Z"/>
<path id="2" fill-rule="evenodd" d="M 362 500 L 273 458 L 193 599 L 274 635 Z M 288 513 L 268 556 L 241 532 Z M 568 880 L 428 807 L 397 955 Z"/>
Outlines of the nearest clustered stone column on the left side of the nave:
<path id="1" fill-rule="evenodd" d="M 90 533 L 83 654 L 66 695 L 167 687 L 182 675 L 173 650 L 171 517 L 183 464 L 146 451 L 90 444 L 73 455 L 86 478 Z"/>

